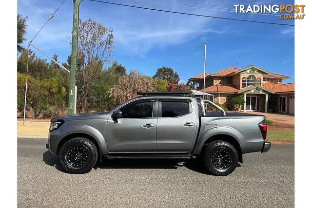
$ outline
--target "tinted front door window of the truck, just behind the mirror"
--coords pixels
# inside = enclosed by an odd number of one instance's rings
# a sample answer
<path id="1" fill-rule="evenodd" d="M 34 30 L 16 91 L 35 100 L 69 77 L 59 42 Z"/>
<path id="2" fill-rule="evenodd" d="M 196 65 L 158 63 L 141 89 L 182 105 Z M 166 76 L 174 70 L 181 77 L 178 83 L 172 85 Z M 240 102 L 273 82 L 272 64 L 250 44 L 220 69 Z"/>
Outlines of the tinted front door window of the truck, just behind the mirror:
<path id="1" fill-rule="evenodd" d="M 122 110 L 122 118 L 151 118 L 154 102 L 140 102 Z"/>

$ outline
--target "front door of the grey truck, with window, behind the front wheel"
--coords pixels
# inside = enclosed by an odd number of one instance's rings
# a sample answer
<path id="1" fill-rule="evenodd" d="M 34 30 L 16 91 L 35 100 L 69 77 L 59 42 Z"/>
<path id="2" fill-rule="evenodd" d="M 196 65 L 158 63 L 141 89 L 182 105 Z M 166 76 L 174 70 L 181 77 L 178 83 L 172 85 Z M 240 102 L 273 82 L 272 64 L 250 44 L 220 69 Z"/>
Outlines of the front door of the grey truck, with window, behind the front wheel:
<path id="1" fill-rule="evenodd" d="M 121 118 L 107 123 L 107 148 L 110 152 L 156 151 L 157 102 L 137 100 L 121 107 Z"/>

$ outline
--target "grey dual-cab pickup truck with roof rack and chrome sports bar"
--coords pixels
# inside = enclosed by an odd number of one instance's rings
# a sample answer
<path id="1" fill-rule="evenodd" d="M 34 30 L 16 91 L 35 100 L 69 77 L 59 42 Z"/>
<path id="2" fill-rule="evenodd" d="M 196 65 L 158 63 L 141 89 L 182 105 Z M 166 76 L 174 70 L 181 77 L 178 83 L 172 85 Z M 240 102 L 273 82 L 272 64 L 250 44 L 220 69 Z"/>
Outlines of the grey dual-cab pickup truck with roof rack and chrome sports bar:
<path id="1" fill-rule="evenodd" d="M 233 172 L 243 154 L 270 150 L 265 116 L 226 113 L 190 93 L 141 92 L 108 112 L 53 118 L 46 147 L 69 173 L 103 159 L 197 158 L 218 176 Z"/>

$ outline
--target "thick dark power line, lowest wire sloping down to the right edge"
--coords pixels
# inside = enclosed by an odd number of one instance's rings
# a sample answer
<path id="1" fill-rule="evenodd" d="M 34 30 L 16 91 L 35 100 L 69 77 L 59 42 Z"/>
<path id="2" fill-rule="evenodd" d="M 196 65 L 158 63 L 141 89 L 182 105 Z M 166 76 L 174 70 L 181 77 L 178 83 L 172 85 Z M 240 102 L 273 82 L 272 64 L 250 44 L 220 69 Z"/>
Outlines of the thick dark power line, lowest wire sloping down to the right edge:
<path id="1" fill-rule="evenodd" d="M 181 15 L 197 16 L 197 17 L 206 17 L 206 18 L 215 18 L 215 19 L 227 19 L 227 20 L 235 20 L 235 21 L 263 23 L 263 24 L 294 26 L 293 24 L 282 24 L 282 23 L 274 23 L 274 22 L 254 21 L 254 20 L 246 20 L 246 19 L 233 19 L 233 18 L 223 18 L 223 17 L 216 17 L 216 16 L 208 16 L 208 15 L 198 15 L 198 14 L 184 13 L 184 12 L 174 12 L 174 11 L 169 11 L 169 10 L 153 9 L 153 8 L 148 8 L 148 7 L 133 6 L 133 5 L 128 5 L 128 4 L 113 3 L 113 2 L 101 1 L 101 0 L 90 0 L 90 1 L 95 1 L 95 2 L 100 2 L 100 3 L 107 3 L 107 4 L 113 4 L 113 5 L 118 5 L 118 6 L 127 6 L 127 7 L 133 7 L 133 8 L 138 8 L 138 9 L 153 10 L 153 11 L 158 11 L 158 12 L 168 12 L 168 13 L 181 14 Z"/>

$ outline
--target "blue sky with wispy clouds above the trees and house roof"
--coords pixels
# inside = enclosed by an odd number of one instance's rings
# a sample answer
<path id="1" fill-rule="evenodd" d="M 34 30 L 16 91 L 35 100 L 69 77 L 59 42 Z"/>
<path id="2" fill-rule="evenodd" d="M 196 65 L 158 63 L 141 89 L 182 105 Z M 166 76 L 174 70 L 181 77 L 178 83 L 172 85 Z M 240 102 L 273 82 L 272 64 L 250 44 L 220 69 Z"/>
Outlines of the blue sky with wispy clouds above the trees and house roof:
<path id="1" fill-rule="evenodd" d="M 27 42 L 34 37 L 62 1 L 18 0 L 18 13 L 28 16 L 27 40 L 24 46 L 27 46 Z M 233 12 L 234 3 L 256 3 L 248 0 L 115 0 L 114 2 L 209 16 L 293 24 L 293 20 L 278 20 L 278 16 Z M 293 0 L 287 3 L 293 4 Z M 242 68 L 254 64 L 273 73 L 291 76 L 284 83 L 294 81 L 292 26 L 193 17 L 89 0 L 81 2 L 79 15 L 82 20 L 91 18 L 106 27 L 113 28 L 114 59 L 127 70 L 137 69 L 142 74 L 153 76 L 157 68 L 167 66 L 178 73 L 180 82 L 186 83 L 190 77 L 203 73 L 204 42 L 207 42 L 207 73 L 231 66 Z M 66 62 L 71 53 L 69 41 L 72 21 L 73 3 L 72 0 L 66 0 L 55 17 L 34 39 L 33 44 L 50 56 L 58 54 L 59 61 Z M 43 57 L 38 51 L 33 50 L 36 55 Z"/>

